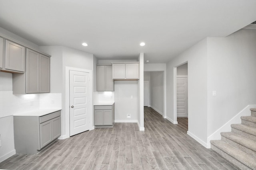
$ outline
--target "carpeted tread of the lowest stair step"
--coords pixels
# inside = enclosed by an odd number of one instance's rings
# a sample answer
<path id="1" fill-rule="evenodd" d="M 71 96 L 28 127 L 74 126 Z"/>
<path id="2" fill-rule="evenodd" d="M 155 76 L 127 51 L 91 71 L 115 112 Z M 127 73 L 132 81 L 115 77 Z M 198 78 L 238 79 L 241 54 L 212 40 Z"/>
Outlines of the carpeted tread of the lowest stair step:
<path id="1" fill-rule="evenodd" d="M 210 141 L 212 145 L 217 147 L 218 149 L 226 152 L 232 158 L 235 158 L 239 162 L 242 162 L 244 165 L 248 166 L 249 168 L 256 170 L 256 157 L 247 154 L 235 147 L 232 147 L 228 143 L 221 141 L 221 140 L 213 140 Z"/>

